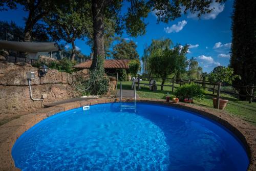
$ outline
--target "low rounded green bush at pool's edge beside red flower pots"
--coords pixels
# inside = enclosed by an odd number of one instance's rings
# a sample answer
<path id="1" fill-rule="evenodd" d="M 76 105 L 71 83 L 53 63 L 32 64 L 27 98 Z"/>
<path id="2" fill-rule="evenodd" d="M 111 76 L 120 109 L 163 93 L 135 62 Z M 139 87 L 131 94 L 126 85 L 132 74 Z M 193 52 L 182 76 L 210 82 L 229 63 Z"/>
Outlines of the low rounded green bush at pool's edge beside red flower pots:
<path id="1" fill-rule="evenodd" d="M 200 86 L 194 83 L 186 83 L 184 86 L 177 88 L 175 94 L 179 99 L 202 98 L 203 91 L 201 90 Z"/>

